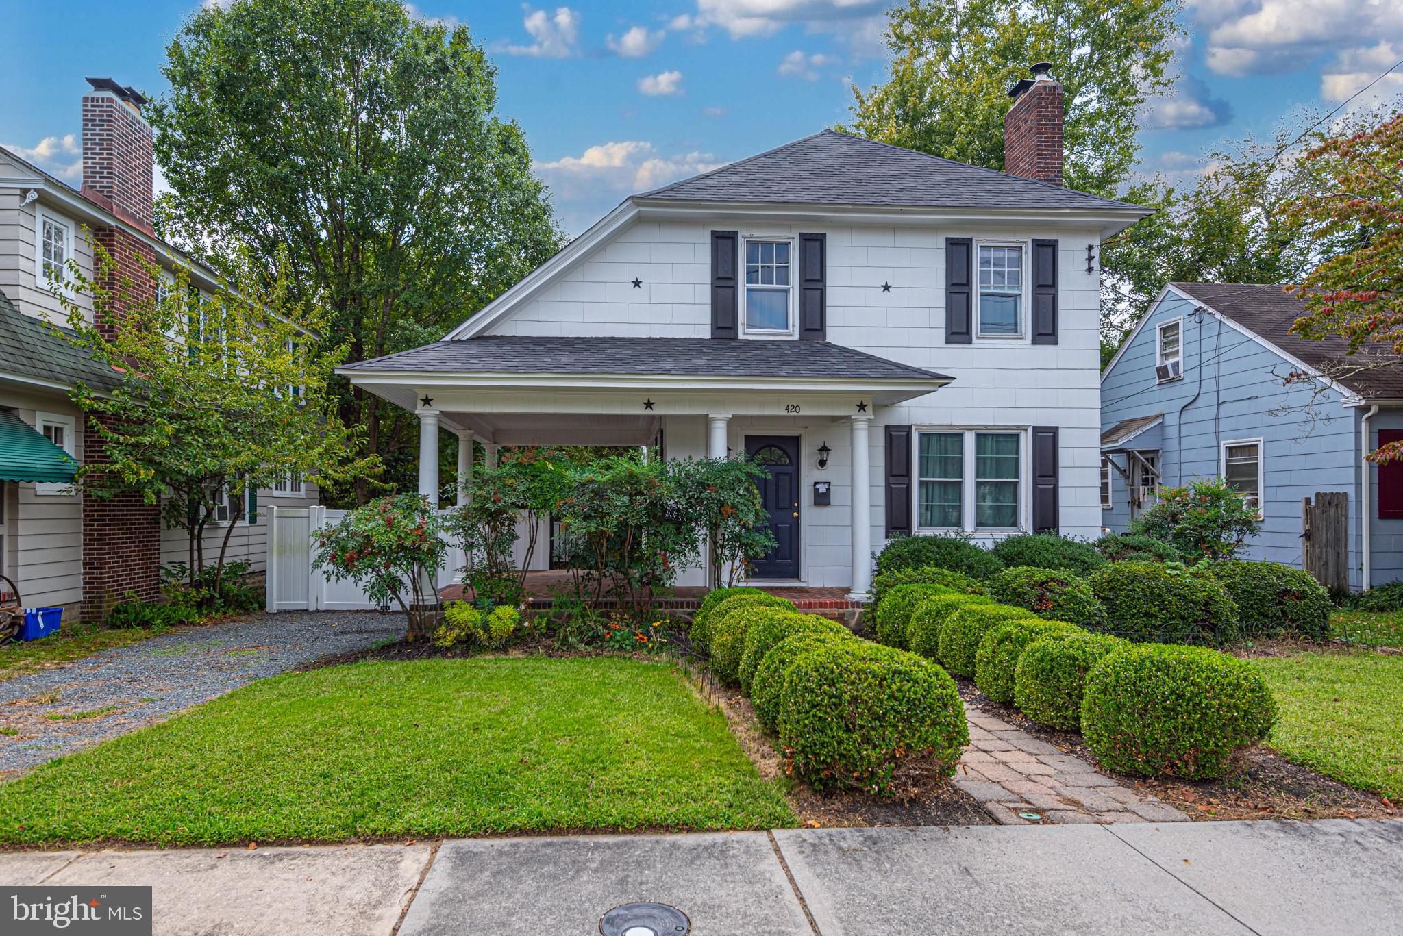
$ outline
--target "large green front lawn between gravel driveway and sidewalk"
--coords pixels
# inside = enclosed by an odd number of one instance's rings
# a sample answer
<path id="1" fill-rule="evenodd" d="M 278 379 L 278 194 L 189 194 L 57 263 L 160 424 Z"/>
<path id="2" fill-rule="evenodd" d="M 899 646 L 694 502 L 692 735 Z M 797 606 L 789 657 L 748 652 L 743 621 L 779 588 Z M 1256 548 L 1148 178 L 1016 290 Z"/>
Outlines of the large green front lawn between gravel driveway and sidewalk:
<path id="1" fill-rule="evenodd" d="M 0 842 L 793 825 L 673 665 L 363 662 L 254 683 L 0 786 Z"/>

